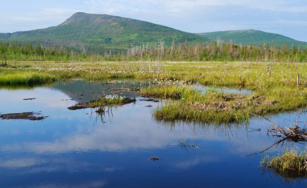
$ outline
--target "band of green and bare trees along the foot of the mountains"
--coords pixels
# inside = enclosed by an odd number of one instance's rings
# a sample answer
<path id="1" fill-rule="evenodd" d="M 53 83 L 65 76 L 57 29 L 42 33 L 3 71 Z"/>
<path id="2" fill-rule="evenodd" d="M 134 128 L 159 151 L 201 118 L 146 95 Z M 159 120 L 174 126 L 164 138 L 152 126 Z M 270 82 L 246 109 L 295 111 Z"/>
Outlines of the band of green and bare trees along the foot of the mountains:
<path id="1" fill-rule="evenodd" d="M 1 63 L 15 61 L 250 61 L 250 62 L 307 62 L 307 48 L 287 48 L 263 45 L 236 45 L 216 41 L 205 44 L 174 43 L 165 46 L 163 41 L 151 46 L 148 43 L 131 46 L 130 49 L 107 49 L 93 52 L 79 46 L 78 49 L 40 43 L 0 42 Z"/>

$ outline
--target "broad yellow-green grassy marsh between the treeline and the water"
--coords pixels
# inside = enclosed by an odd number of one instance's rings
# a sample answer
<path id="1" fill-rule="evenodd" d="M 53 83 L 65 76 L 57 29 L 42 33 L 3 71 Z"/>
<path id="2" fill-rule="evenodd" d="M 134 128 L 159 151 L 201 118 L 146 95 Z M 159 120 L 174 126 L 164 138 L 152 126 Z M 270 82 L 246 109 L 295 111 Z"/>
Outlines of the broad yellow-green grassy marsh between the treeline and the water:
<path id="1" fill-rule="evenodd" d="M 154 112 L 161 120 L 243 122 L 249 120 L 249 112 L 264 116 L 306 107 L 307 64 L 274 63 L 271 76 L 267 67 L 265 63 L 162 62 L 158 71 L 158 63 L 151 62 L 149 71 L 148 62 L 145 66 L 140 62 L 16 62 L 15 67 L 0 67 L 0 86 L 73 78 L 150 80 L 155 86 L 141 88 L 142 95 L 171 99 Z M 301 74 L 299 87 L 297 73 Z M 253 94 L 230 96 L 210 90 L 202 94 L 187 83 L 247 88 Z"/>

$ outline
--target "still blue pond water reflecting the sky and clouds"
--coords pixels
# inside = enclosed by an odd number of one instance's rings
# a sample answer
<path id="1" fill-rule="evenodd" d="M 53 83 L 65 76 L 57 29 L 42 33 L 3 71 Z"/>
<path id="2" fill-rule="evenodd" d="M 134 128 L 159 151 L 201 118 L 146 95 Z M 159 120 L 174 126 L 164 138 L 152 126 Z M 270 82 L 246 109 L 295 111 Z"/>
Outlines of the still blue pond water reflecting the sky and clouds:
<path id="1" fill-rule="evenodd" d="M 0 90 L 0 112 L 42 111 L 43 121 L 0 120 L 1 187 L 305 187 L 305 179 L 283 181 L 262 174 L 262 155 L 274 143 L 266 136 L 270 124 L 254 118 L 245 125 L 218 126 L 155 122 L 160 103 L 140 101 L 96 116 L 95 110 L 69 111 L 71 98 L 91 100 L 107 88 L 139 87 L 56 84 L 34 90 Z M 97 87 L 98 86 L 98 87 Z M 95 92 L 95 94 L 94 94 Z M 126 92 L 126 96 L 137 96 Z M 23 100 L 36 98 L 35 100 Z M 140 99 L 137 97 L 137 99 Z M 76 100 L 76 99 L 75 99 Z M 152 108 L 145 107 L 153 105 Z M 288 126 L 297 113 L 272 116 Z M 306 115 L 300 121 L 306 121 Z M 261 131 L 249 132 L 251 128 Z M 190 147 L 180 147 L 187 140 Z M 196 142 L 200 149 L 195 149 Z M 274 147 L 268 153 L 279 152 Z M 149 160 L 157 156 L 156 162 Z"/>

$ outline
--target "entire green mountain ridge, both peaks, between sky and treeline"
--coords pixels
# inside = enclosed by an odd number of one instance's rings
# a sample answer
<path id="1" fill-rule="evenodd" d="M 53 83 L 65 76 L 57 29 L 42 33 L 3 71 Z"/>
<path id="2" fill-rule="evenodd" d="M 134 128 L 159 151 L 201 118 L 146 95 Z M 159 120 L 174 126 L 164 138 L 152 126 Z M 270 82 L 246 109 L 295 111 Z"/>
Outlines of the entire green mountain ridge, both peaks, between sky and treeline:
<path id="1" fill-rule="evenodd" d="M 87 14 L 77 12 L 56 26 L 45 29 L 0 33 L 0 39 L 21 42 L 45 42 L 49 45 L 82 45 L 87 49 L 98 48 L 128 49 L 131 46 L 149 43 L 156 45 L 159 40 L 166 45 L 174 42 L 196 43 L 212 42 L 220 38 L 223 41 L 235 41 L 236 44 L 286 44 L 290 47 L 307 46 L 307 42 L 297 41 L 286 36 L 258 30 L 231 30 L 209 33 L 188 33 L 164 25 L 147 21 L 112 16 L 107 14 Z"/>

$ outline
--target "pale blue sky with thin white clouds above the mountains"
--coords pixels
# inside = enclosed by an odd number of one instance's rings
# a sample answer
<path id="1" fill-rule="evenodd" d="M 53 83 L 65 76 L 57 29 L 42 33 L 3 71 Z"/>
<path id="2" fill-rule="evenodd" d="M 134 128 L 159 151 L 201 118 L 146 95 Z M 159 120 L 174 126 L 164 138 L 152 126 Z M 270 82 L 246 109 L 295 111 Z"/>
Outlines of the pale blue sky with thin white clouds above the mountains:
<path id="1" fill-rule="evenodd" d="M 140 19 L 191 33 L 255 29 L 307 41 L 307 0 L 0 1 L 0 33 L 47 28 L 75 12 L 86 12 Z"/>

